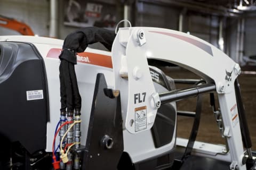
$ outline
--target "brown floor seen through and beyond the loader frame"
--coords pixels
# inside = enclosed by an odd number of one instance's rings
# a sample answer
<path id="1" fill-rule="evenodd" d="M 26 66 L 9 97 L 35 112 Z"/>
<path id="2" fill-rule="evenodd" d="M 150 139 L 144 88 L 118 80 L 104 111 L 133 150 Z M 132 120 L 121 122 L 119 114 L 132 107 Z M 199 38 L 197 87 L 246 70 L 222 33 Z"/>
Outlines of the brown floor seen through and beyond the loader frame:
<path id="1" fill-rule="evenodd" d="M 254 68 L 255 69 L 255 68 Z M 162 69 L 167 75 L 174 79 L 188 78 L 188 79 L 199 79 L 199 77 L 187 70 L 179 68 L 164 67 Z M 252 68 L 242 68 L 243 70 L 253 71 Z M 255 74 L 244 74 L 242 72 L 238 77 L 241 92 L 243 96 L 243 102 L 247 121 L 251 133 L 252 150 L 256 151 L 256 75 Z M 182 88 L 187 85 L 177 84 L 176 88 Z M 215 94 L 215 100 L 218 105 L 217 95 Z M 193 111 L 196 109 L 196 98 L 190 98 L 179 101 L 178 110 L 181 111 Z M 218 106 L 217 106 L 218 107 Z M 188 138 L 191 127 L 193 125 L 193 118 L 178 116 L 178 137 Z M 196 140 L 211 143 L 225 144 L 225 140 L 221 137 L 215 117 L 210 107 L 209 95 L 203 95 L 202 115 L 201 122 L 199 125 L 199 131 Z"/>

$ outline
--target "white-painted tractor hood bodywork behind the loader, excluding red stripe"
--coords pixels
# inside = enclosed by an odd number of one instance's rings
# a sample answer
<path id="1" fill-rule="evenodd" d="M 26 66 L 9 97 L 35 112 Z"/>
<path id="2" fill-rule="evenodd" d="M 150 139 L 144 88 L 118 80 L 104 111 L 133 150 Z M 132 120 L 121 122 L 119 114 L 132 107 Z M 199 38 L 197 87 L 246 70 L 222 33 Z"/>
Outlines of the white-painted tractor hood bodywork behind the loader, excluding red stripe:
<path id="1" fill-rule="evenodd" d="M 50 121 L 47 122 L 47 141 L 46 151 L 52 151 L 52 142 L 54 137 L 55 126 L 60 118 L 60 83 L 59 83 L 59 59 L 46 57 L 47 53 L 52 48 L 62 48 L 63 40 L 32 37 L 32 36 L 0 36 L 0 41 L 22 41 L 34 44 L 39 53 L 42 55 L 45 62 L 45 69 L 47 75 L 47 86 L 49 90 L 49 104 L 50 104 Z M 86 48 L 86 52 L 102 54 L 111 56 L 110 52 L 102 50 Z M 114 88 L 114 73 L 113 69 L 107 67 L 96 66 L 91 64 L 79 63 L 75 66 L 79 92 L 82 97 L 82 138 L 81 144 L 85 145 L 87 129 L 90 120 L 90 112 L 92 105 L 92 98 L 94 92 L 94 85 L 97 73 L 104 73 L 109 88 Z M 158 85 L 158 84 L 157 84 Z M 157 86 L 157 90 L 163 92 L 163 87 Z M 160 92 L 160 91 L 159 91 Z M 123 94 L 122 94 L 123 95 Z M 123 95 L 124 96 L 124 95 Z M 175 130 L 176 131 L 176 130 Z M 169 152 L 175 144 L 175 133 L 173 134 L 173 141 L 169 144 L 155 148 L 153 137 L 150 131 L 143 131 L 139 134 L 131 134 L 127 130 L 123 130 L 124 135 L 124 151 L 127 152 L 133 163 L 140 162 L 151 157 L 162 155 Z M 59 141 L 57 137 L 56 141 Z M 134 143 L 134 141 L 137 141 Z M 58 143 L 58 142 L 57 142 Z"/>

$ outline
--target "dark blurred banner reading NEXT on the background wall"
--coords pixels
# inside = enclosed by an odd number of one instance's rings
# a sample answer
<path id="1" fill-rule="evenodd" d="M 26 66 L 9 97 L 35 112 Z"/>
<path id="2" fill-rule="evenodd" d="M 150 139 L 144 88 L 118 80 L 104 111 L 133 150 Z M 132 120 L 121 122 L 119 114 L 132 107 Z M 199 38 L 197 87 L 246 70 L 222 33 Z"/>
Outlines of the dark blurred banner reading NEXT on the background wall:
<path id="1" fill-rule="evenodd" d="M 115 29 L 116 5 L 86 0 L 69 0 L 64 2 L 65 25 Z"/>

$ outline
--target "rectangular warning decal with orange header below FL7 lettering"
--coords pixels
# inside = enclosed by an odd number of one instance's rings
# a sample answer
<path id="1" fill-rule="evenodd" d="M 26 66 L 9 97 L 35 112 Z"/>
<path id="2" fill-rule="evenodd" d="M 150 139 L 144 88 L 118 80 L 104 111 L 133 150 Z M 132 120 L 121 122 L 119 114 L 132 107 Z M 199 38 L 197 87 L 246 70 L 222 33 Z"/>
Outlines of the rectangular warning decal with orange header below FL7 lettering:
<path id="1" fill-rule="evenodd" d="M 135 108 L 135 132 L 147 129 L 147 106 Z"/>

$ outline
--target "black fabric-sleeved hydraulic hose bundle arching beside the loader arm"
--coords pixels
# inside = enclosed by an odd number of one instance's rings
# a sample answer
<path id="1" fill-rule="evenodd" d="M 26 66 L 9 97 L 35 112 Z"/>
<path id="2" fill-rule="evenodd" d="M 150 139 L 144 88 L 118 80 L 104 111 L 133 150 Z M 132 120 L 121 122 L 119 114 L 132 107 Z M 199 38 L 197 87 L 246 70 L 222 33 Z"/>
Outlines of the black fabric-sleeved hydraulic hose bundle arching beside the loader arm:
<path id="1" fill-rule="evenodd" d="M 87 27 L 70 33 L 64 40 L 60 58 L 60 96 L 61 112 L 74 112 L 80 115 L 81 96 L 77 86 L 75 73 L 76 53 L 84 52 L 89 44 L 100 42 L 111 50 L 116 34 L 113 31 Z"/>

